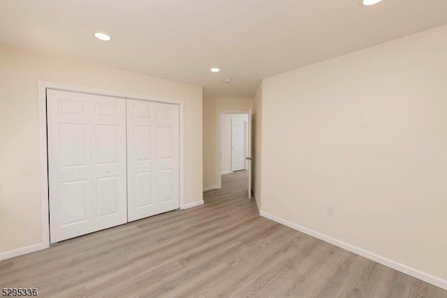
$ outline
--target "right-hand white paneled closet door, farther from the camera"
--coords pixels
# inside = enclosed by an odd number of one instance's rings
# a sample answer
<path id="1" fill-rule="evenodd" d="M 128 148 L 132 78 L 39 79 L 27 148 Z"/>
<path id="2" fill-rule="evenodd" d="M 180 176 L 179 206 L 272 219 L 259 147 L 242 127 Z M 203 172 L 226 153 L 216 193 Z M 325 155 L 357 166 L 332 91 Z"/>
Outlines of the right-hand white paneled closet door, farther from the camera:
<path id="1" fill-rule="evenodd" d="M 130 222 L 179 208 L 179 106 L 126 102 Z"/>

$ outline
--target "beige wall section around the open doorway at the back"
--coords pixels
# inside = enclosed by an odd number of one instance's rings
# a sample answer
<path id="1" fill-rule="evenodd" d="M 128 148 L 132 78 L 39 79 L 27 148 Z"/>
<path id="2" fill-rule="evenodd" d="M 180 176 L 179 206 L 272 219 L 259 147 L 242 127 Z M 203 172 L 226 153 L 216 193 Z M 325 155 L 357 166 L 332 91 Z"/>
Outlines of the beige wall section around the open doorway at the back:
<path id="1" fill-rule="evenodd" d="M 251 98 L 203 99 L 203 187 L 218 185 L 217 126 L 219 112 L 243 112 L 253 108 Z"/>

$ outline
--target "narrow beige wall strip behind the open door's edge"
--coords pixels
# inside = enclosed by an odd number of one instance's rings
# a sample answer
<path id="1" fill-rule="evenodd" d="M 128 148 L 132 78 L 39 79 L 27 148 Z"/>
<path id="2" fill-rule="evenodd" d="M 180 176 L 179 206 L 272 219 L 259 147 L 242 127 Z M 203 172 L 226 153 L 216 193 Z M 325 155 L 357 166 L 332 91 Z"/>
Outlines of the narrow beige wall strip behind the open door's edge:
<path id="1" fill-rule="evenodd" d="M 261 160 L 262 160 L 262 133 L 263 133 L 263 84 L 259 85 L 254 96 L 253 113 L 253 157 L 254 169 L 252 173 L 253 191 L 258 208 L 261 208 Z"/>

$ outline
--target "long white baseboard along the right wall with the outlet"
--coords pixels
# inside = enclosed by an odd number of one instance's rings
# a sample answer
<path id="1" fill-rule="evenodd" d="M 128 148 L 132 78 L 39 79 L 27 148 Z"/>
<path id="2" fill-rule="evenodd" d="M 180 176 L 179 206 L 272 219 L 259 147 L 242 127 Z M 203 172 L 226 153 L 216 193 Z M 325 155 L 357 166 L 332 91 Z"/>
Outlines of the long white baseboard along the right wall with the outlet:
<path id="1" fill-rule="evenodd" d="M 436 285 L 439 288 L 443 288 L 444 290 L 447 290 L 447 281 L 445 281 L 444 279 L 439 278 L 437 276 L 432 276 L 431 274 L 427 274 L 427 273 L 420 271 L 418 269 L 414 269 L 414 268 L 411 268 L 404 264 L 401 264 L 399 262 L 395 262 L 395 261 L 390 260 L 386 257 L 382 257 L 381 255 L 376 255 L 375 253 L 372 253 L 372 252 L 365 250 L 363 248 L 359 248 L 358 246 L 353 246 L 352 244 L 332 238 L 331 236 L 321 234 L 320 232 L 316 232 L 313 229 L 303 227 L 302 225 L 297 225 L 293 222 L 289 222 L 288 220 L 283 220 L 282 218 L 278 218 L 278 217 L 271 215 L 269 213 L 260 211 L 259 215 L 263 216 L 264 218 L 268 218 L 269 220 L 279 222 L 282 225 L 286 225 L 287 227 L 291 227 L 292 229 L 296 229 L 300 232 L 303 232 L 305 234 L 308 234 L 310 236 L 313 236 L 313 237 L 323 240 L 325 242 L 328 242 L 330 244 L 333 244 L 335 246 L 338 246 L 339 248 L 349 250 L 351 253 L 361 255 L 362 257 L 366 257 L 369 260 L 373 260 L 374 262 L 378 262 L 378 263 L 383 264 L 387 267 L 393 268 L 397 271 L 401 271 L 404 274 L 413 276 L 414 278 L 418 278 L 421 281 L 431 283 L 432 285 Z"/>

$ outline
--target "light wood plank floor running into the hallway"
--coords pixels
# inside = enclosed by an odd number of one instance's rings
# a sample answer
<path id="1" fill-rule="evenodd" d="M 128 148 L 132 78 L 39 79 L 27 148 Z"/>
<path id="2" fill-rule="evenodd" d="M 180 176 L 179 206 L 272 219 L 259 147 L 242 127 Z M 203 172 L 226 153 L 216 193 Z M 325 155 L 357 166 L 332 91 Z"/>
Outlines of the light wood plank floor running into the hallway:
<path id="1" fill-rule="evenodd" d="M 52 297 L 447 297 L 447 292 L 261 218 L 247 174 L 205 205 L 0 262 L 0 288 Z M 4 241 L 4 239 L 2 239 Z"/>

